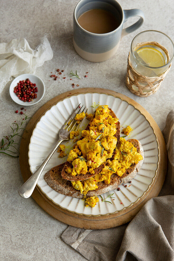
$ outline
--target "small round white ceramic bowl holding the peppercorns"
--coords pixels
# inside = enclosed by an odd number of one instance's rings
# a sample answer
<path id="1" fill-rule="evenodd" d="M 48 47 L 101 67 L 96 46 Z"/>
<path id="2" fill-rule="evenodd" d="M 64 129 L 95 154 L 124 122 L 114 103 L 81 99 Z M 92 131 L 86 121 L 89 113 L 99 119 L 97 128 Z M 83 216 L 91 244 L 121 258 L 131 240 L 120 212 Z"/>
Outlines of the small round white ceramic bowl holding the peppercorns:
<path id="1" fill-rule="evenodd" d="M 38 92 L 37 92 L 37 98 L 33 99 L 32 102 L 23 102 L 22 100 L 20 100 L 16 93 L 14 93 L 14 87 L 18 84 L 19 81 L 23 81 L 26 79 L 30 79 L 30 81 L 34 84 L 36 84 L 36 87 L 38 88 Z M 44 93 L 45 93 L 45 85 L 44 82 L 36 75 L 34 74 L 30 74 L 30 73 L 26 73 L 26 74 L 21 74 L 18 77 L 16 77 L 10 84 L 10 88 L 9 88 L 9 92 L 10 92 L 10 96 L 11 99 L 20 105 L 23 106 L 30 106 L 33 104 L 38 103 L 40 100 L 42 100 Z"/>

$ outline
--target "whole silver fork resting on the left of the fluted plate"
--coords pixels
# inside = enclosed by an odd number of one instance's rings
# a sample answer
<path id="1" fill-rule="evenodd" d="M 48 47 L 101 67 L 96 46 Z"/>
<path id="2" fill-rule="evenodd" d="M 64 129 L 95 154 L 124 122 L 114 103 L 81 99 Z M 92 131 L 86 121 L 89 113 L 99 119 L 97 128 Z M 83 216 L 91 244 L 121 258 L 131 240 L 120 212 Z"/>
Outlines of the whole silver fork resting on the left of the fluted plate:
<path id="1" fill-rule="evenodd" d="M 74 127 L 76 126 L 76 128 L 74 129 L 74 131 L 77 131 L 78 128 L 80 127 L 80 124 L 82 123 L 82 120 L 77 124 L 77 121 L 74 120 L 75 116 L 74 115 L 76 113 L 76 110 L 79 108 L 80 104 L 77 106 L 77 108 L 73 111 L 73 113 L 69 116 L 68 120 L 65 122 L 65 124 L 62 126 L 62 128 L 59 131 L 59 140 L 57 141 L 56 145 L 54 146 L 53 150 L 50 152 L 50 154 L 48 155 L 48 157 L 44 160 L 44 162 L 40 165 L 40 167 L 33 173 L 33 175 L 20 187 L 19 189 L 19 195 L 23 198 L 29 198 L 31 196 L 31 194 L 33 193 L 34 188 L 36 187 L 36 184 L 38 182 L 38 179 L 43 171 L 43 169 L 45 168 L 45 166 L 47 165 L 49 159 L 51 158 L 51 156 L 53 155 L 53 153 L 56 151 L 56 149 L 58 148 L 58 146 L 60 145 L 60 143 L 63 140 L 69 140 L 69 133 L 71 131 L 73 131 Z M 83 106 L 82 106 L 83 107 Z M 80 110 L 82 109 L 82 107 L 78 110 L 77 113 L 80 112 Z M 86 107 L 85 107 L 86 108 Z M 83 109 L 83 111 L 85 110 L 85 108 Z M 82 112 L 83 112 L 82 111 Z M 86 112 L 88 111 L 88 109 L 86 109 Z M 74 117 L 73 117 L 74 116 Z M 71 123 L 69 123 L 69 121 L 71 121 Z M 69 125 L 68 125 L 69 123 Z"/>

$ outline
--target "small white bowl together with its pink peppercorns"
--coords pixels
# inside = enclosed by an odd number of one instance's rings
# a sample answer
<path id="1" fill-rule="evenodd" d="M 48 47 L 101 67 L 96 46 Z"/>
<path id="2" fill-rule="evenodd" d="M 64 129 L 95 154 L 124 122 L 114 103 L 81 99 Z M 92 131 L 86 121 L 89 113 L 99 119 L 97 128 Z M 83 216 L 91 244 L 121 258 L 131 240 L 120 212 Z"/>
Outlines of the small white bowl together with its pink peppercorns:
<path id="1" fill-rule="evenodd" d="M 45 93 L 44 82 L 34 74 L 21 74 L 10 84 L 11 99 L 22 106 L 29 106 L 42 100 Z"/>

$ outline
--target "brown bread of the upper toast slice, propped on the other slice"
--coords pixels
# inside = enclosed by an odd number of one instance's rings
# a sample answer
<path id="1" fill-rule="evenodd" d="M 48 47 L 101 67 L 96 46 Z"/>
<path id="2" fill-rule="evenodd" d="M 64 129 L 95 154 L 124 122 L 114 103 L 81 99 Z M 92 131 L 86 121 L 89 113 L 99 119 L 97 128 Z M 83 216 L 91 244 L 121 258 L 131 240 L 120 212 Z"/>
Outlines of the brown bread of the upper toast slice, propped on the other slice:
<path id="1" fill-rule="evenodd" d="M 117 116 L 115 115 L 115 113 L 114 113 L 110 108 L 108 108 L 108 109 L 110 110 L 109 114 L 110 114 L 113 118 L 117 118 Z M 92 119 L 91 119 L 90 122 L 92 122 L 92 120 L 94 119 L 94 117 L 95 117 L 95 114 L 94 114 L 94 116 L 92 117 Z M 88 126 L 86 127 L 85 130 L 89 130 L 90 122 L 89 122 L 89 124 L 88 124 Z M 117 145 L 118 145 L 118 143 L 119 143 L 119 141 L 120 141 L 120 122 L 119 122 L 119 121 L 118 121 L 118 123 L 117 123 L 117 132 L 115 133 L 114 137 L 117 138 Z M 83 137 L 80 137 L 79 140 L 82 140 L 82 139 L 83 139 Z M 117 145 L 116 145 L 116 146 L 117 146 Z M 89 179 L 90 177 L 95 176 L 96 174 L 98 174 L 98 173 L 102 170 L 102 168 L 103 168 L 105 165 L 106 165 L 106 162 L 102 163 L 98 168 L 95 168 L 95 169 L 94 169 L 94 174 L 91 174 L 91 173 L 87 172 L 86 174 L 79 174 L 79 175 L 76 175 L 76 176 L 72 176 L 71 174 L 68 174 L 68 173 L 65 171 L 65 169 L 66 169 L 67 166 L 72 168 L 72 164 L 69 163 L 68 161 L 66 161 L 65 166 L 64 166 L 63 169 L 62 169 L 61 175 L 62 175 L 63 179 L 66 179 L 66 180 L 76 180 L 76 181 L 77 181 L 77 180 L 85 180 L 85 179 Z"/>

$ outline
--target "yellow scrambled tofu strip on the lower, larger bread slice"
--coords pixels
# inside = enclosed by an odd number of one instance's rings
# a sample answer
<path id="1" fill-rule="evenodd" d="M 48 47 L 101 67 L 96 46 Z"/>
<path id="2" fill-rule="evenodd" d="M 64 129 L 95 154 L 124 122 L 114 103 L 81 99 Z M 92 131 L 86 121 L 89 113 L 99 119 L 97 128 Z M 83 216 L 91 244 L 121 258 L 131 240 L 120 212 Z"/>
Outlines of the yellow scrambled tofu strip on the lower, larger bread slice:
<path id="1" fill-rule="evenodd" d="M 72 186 L 85 195 L 89 190 L 97 189 L 98 182 L 104 181 L 106 184 L 109 184 L 112 174 L 115 173 L 121 177 L 126 169 L 134 163 L 137 164 L 142 159 L 143 157 L 130 141 L 120 138 L 112 160 L 107 160 L 100 173 L 83 181 L 71 181 Z"/>

